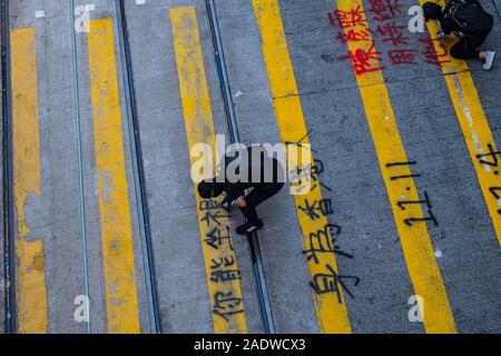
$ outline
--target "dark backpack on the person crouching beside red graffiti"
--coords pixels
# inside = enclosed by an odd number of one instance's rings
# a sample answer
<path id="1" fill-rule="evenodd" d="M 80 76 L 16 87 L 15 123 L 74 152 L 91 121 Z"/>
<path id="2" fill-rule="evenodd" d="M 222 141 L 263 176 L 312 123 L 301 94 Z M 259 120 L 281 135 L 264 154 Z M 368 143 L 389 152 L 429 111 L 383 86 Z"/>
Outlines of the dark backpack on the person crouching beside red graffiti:
<path id="1" fill-rule="evenodd" d="M 494 18 L 490 13 L 464 0 L 451 0 L 448 14 L 470 37 L 490 31 L 494 24 Z"/>

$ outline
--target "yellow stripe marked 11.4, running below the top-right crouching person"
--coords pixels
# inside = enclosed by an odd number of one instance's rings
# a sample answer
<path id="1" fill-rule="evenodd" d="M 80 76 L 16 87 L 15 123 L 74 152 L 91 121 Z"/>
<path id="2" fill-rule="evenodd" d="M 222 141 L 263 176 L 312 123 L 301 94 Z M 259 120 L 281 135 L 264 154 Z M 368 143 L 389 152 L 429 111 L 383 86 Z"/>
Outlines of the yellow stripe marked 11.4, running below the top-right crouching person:
<path id="1" fill-rule="evenodd" d="M 420 2 L 424 4 L 426 1 L 420 0 Z M 443 1 L 441 4 L 444 4 Z M 436 37 L 435 33 L 439 30 L 438 23 L 429 21 L 428 28 L 431 36 Z M 434 41 L 434 44 L 439 53 L 443 51 L 440 48 L 439 41 Z M 498 167 L 492 167 L 481 162 L 478 158 L 479 155 L 490 152 L 488 145 L 491 145 L 493 152 L 497 152 L 498 149 L 480 102 L 473 78 L 469 72 L 468 63 L 451 57 L 446 59 L 450 61 L 442 63 L 442 71 L 461 130 L 463 131 L 464 140 L 470 151 L 470 157 L 479 177 L 480 188 L 482 189 L 498 241 L 501 245 L 501 199 L 498 199 L 498 196 L 501 196 L 501 191 L 498 191 L 498 188 L 501 190 L 501 162 Z M 498 159 L 500 158 L 498 155 Z M 490 162 L 494 161 L 493 157 L 488 157 L 484 160 Z M 491 188 L 494 188 L 495 194 L 491 191 Z"/>

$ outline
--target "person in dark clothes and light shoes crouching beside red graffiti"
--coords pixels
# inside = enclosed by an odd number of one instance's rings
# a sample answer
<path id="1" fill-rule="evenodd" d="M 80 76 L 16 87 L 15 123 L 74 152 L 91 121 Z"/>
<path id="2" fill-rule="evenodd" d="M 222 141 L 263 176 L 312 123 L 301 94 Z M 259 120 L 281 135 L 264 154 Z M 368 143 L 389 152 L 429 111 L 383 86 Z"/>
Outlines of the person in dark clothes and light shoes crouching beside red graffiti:
<path id="1" fill-rule="evenodd" d="M 481 51 L 494 26 L 494 18 L 488 13 L 479 0 L 448 0 L 445 8 L 434 3 L 423 4 L 424 19 L 440 21 L 439 37 L 458 41 L 451 48 L 451 56 L 458 59 L 480 59 L 483 69 L 490 70 L 495 51 Z"/>

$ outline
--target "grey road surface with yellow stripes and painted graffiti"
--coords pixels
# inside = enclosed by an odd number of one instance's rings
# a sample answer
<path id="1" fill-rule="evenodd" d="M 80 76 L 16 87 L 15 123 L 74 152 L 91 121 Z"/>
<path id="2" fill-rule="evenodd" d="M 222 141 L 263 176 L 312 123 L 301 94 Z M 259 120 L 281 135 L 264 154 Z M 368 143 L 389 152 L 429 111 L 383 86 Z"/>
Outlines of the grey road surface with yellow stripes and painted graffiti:
<path id="1" fill-rule="evenodd" d="M 419 0 L 214 4 L 239 139 L 314 159 L 258 209 L 266 289 L 190 178 L 230 141 L 206 1 L 16 0 L 11 332 L 500 333 L 501 58 L 452 59 Z"/>

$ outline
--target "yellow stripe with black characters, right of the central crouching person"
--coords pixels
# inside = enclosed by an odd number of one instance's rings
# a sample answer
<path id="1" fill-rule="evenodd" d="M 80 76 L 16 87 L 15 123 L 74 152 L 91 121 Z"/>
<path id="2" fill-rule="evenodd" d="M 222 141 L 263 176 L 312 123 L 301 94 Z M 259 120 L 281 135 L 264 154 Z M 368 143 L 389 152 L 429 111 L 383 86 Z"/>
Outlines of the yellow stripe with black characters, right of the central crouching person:
<path id="1" fill-rule="evenodd" d="M 294 77 L 294 69 L 287 48 L 278 1 L 253 0 L 253 3 L 262 37 L 263 55 L 267 68 L 269 86 L 274 97 L 275 115 L 282 140 L 283 142 L 297 142 L 302 138 L 305 138 L 302 142 L 307 145 L 310 144 L 308 132 L 301 99 L 298 97 L 296 79 Z M 310 159 L 312 157 L 310 157 Z M 304 166 L 303 161 L 305 161 L 305 158 L 302 159 L 299 157 L 299 159 L 296 160 L 289 155 L 287 160 L 288 169 L 291 171 L 296 171 L 297 167 Z M 306 161 L 313 160 L 307 160 L 306 158 Z M 305 250 L 312 248 L 307 237 L 324 230 L 328 222 L 325 217 L 321 217 L 316 220 L 310 219 L 307 215 L 301 211 L 299 207 L 305 207 L 306 202 L 313 204 L 314 201 L 318 202 L 321 200 L 322 192 L 320 189 L 312 190 L 307 195 L 295 196 L 297 216 L 305 237 Z M 336 259 L 332 255 L 318 254 L 318 264 L 313 259 L 310 260 L 308 269 L 312 280 L 315 280 L 315 276 L 318 275 L 332 275 L 328 266 L 337 274 Z M 348 315 L 342 290 L 341 295 L 342 303 L 338 303 L 337 296 L 333 293 L 321 295 L 314 294 L 314 304 L 322 333 L 351 333 Z"/>

